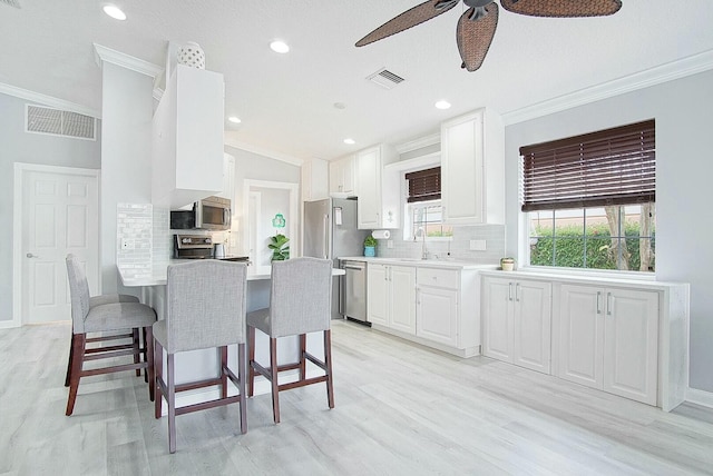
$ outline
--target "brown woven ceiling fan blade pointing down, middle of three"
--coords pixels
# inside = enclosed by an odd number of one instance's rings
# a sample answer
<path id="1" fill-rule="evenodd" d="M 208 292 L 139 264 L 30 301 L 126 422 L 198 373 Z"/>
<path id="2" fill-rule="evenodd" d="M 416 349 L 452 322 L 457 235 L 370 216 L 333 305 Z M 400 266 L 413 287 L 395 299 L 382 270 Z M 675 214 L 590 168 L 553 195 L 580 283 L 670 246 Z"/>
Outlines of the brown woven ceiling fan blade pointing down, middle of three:
<path id="1" fill-rule="evenodd" d="M 486 10 L 485 17 L 471 20 L 476 9 L 470 8 L 458 20 L 456 30 L 458 51 L 468 71 L 475 71 L 482 65 L 498 26 L 498 4 L 492 2 L 480 8 Z"/>

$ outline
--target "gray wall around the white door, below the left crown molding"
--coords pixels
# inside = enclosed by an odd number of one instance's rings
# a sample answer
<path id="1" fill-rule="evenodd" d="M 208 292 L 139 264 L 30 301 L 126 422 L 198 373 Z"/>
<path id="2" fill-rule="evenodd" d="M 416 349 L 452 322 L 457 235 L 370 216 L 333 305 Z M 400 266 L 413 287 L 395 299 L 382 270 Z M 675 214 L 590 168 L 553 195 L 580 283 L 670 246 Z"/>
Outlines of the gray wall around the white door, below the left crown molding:
<path id="1" fill-rule="evenodd" d="M 13 163 L 101 167 L 100 131 L 96 141 L 26 132 L 25 105 L 28 102 L 31 101 L 0 93 L 0 222 L 3 224 L 0 227 L 0 321 L 12 320 Z"/>

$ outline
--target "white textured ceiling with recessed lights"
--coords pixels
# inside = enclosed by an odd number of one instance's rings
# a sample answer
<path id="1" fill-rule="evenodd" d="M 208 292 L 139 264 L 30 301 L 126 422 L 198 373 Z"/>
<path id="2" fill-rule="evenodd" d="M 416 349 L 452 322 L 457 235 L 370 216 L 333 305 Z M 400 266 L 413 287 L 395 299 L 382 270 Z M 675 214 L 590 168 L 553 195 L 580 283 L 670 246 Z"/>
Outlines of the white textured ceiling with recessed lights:
<path id="1" fill-rule="evenodd" d="M 117 0 L 124 22 L 104 14 L 106 2 L 19 1 L 21 9 L 0 4 L 0 82 L 100 110 L 92 43 L 163 66 L 168 41 L 196 41 L 206 69 L 225 77 L 226 115 L 243 120 L 226 122 L 226 140 L 300 159 L 402 142 L 479 107 L 504 113 L 713 50 L 712 0 L 623 0 L 618 13 L 590 19 L 500 9 L 476 72 L 460 69 L 456 47 L 462 4 L 355 48 L 419 1 Z M 276 38 L 289 54 L 270 50 Z M 406 81 L 385 90 L 365 80 L 382 67 Z M 437 110 L 439 99 L 453 107 Z M 356 145 L 344 145 L 346 137 Z"/>

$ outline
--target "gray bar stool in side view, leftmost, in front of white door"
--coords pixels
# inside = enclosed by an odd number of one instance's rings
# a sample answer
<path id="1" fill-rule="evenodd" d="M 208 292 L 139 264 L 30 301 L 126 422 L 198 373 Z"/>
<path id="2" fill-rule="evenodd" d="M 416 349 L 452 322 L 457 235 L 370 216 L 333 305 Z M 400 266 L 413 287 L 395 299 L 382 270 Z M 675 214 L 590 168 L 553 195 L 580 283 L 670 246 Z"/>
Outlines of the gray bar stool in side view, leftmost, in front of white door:
<path id="1" fill-rule="evenodd" d="M 67 255 L 67 275 L 71 296 L 72 337 L 69 350 L 69 363 L 65 385 L 69 387 L 66 415 L 72 414 L 77 390 L 81 377 L 145 368 L 148 380 L 148 395 L 154 399 L 154 353 L 152 326 L 156 321 L 156 313 L 138 299 L 121 295 L 89 296 L 87 276 L 79 259 Z M 94 333 L 115 333 L 131 329 L 130 334 L 87 337 Z M 139 329 L 144 331 L 144 347 L 138 345 Z M 87 348 L 87 344 L 120 338 L 131 338 L 131 344 L 119 344 Z M 145 356 L 140 361 L 140 355 Z M 107 365 L 106 367 L 84 369 L 84 363 L 105 358 L 133 355 L 134 364 Z"/>

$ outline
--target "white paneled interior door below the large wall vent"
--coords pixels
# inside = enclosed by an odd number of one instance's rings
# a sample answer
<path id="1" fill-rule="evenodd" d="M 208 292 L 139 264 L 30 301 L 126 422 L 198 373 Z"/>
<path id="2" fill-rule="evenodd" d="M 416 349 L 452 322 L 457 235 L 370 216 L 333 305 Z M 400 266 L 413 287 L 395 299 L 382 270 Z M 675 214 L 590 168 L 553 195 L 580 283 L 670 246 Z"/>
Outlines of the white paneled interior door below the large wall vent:
<path id="1" fill-rule="evenodd" d="M 66 171 L 65 171 L 66 170 Z M 99 285 L 98 173 L 71 169 L 22 173 L 21 321 L 68 320 L 69 281 L 65 257 L 85 265 L 89 290 Z"/>

